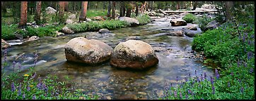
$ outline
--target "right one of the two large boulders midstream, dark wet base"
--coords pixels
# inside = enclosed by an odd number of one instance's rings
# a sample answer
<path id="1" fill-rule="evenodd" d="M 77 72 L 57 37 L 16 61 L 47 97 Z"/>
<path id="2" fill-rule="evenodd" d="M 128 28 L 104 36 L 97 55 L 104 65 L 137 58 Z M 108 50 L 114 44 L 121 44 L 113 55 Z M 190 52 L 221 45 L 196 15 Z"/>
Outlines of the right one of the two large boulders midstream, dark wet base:
<path id="1" fill-rule="evenodd" d="M 158 63 L 153 48 L 144 41 L 119 43 L 110 58 L 110 65 L 120 68 L 145 69 Z"/>

